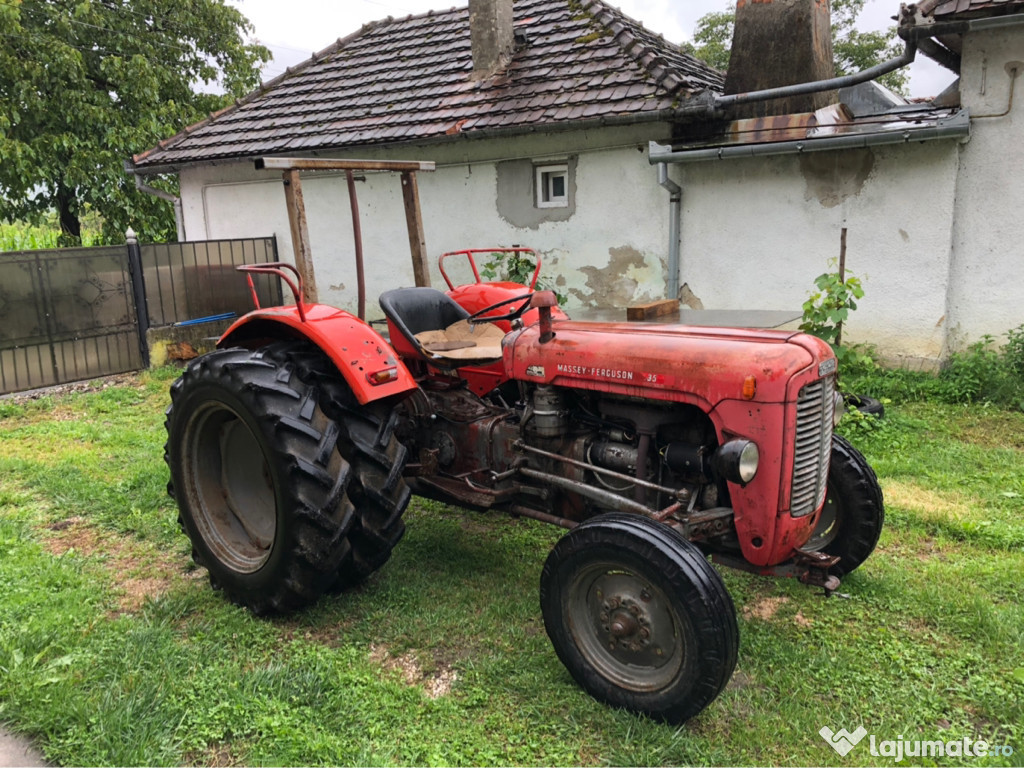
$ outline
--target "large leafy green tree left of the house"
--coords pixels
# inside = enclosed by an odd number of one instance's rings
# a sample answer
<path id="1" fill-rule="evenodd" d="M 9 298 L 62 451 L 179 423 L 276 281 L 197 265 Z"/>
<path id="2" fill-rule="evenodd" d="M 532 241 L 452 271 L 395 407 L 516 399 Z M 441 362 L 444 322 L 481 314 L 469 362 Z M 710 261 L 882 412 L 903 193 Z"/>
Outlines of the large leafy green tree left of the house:
<path id="1" fill-rule="evenodd" d="M 0 0 L 0 219 L 55 211 L 76 245 L 88 209 L 106 242 L 173 239 L 125 160 L 258 85 L 251 33 L 224 0 Z"/>

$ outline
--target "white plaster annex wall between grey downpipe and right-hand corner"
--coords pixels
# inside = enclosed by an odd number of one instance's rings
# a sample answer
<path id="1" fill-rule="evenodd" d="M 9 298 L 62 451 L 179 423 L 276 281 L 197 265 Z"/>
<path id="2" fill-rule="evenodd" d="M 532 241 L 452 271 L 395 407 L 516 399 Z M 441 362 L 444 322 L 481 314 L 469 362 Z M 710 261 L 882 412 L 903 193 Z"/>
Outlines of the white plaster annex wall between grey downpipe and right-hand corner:
<path id="1" fill-rule="evenodd" d="M 847 269 L 865 296 L 844 339 L 891 357 L 936 358 L 956 153 L 942 140 L 676 166 L 680 283 L 706 308 L 799 312 L 814 279 L 835 268 L 845 226 Z"/>

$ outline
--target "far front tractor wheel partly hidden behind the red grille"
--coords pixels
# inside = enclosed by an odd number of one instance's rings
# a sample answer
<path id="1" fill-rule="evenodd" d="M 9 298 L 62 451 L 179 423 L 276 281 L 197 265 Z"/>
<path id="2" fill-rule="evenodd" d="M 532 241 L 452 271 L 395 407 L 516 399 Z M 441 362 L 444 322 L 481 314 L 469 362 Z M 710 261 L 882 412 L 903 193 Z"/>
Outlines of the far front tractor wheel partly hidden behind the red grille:
<path id="1" fill-rule="evenodd" d="M 849 440 L 833 435 L 825 503 L 802 549 L 839 555 L 830 571 L 843 577 L 874 551 L 884 522 L 885 503 L 874 470 Z"/>

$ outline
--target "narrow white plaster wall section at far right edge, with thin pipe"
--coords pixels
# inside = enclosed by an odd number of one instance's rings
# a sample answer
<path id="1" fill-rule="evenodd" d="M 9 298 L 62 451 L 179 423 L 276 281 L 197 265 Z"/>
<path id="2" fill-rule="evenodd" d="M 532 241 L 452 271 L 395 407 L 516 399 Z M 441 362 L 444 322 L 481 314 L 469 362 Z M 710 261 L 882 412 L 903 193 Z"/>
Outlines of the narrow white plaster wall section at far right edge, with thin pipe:
<path id="1" fill-rule="evenodd" d="M 1017 69 L 1014 105 L 1011 73 Z M 961 151 L 949 275 L 950 350 L 1024 323 L 1024 27 L 965 36 Z"/>

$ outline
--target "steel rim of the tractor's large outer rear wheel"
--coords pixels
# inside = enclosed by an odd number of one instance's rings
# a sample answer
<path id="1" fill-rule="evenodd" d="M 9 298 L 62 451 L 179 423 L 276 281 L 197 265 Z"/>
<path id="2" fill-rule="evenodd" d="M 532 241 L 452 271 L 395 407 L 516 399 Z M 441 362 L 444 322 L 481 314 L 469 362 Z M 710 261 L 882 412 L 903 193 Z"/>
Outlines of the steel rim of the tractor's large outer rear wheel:
<path id="1" fill-rule="evenodd" d="M 224 565 L 259 570 L 273 550 L 278 515 L 263 447 L 222 403 L 199 409 L 189 427 L 188 490 L 203 541 Z"/>

